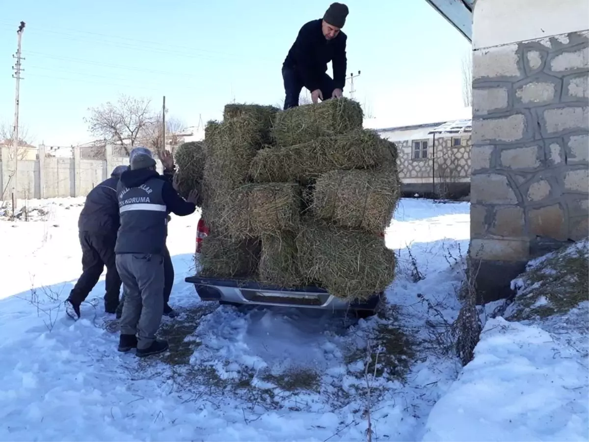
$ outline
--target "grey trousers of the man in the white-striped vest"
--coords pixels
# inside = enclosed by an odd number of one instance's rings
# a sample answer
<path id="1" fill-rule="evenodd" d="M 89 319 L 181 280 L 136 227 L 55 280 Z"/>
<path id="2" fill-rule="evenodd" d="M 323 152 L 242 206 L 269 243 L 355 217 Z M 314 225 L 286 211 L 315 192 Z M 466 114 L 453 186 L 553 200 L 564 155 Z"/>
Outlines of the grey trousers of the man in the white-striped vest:
<path id="1" fill-rule="evenodd" d="M 137 335 L 137 348 L 148 348 L 164 313 L 164 257 L 125 253 L 116 262 L 125 293 L 121 334 Z"/>

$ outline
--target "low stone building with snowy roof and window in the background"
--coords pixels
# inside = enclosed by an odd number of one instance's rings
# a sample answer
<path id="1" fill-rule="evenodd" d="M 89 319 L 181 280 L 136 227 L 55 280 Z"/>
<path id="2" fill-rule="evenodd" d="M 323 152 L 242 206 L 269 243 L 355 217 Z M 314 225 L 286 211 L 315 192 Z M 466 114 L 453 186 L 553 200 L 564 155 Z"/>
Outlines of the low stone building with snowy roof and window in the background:
<path id="1" fill-rule="evenodd" d="M 470 193 L 471 120 L 377 131 L 398 147 L 405 196 L 460 198 Z"/>

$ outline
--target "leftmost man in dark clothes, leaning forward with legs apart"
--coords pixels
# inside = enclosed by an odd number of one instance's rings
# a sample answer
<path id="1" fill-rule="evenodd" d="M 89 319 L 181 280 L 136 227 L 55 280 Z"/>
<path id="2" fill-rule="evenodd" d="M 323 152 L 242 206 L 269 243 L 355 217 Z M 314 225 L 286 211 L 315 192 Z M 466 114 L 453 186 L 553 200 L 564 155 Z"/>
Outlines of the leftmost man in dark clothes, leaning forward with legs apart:
<path id="1" fill-rule="evenodd" d="M 80 318 L 80 305 L 107 268 L 104 310 L 114 313 L 118 306 L 121 279 L 115 266 L 114 245 L 119 225 L 117 184 L 127 166 L 117 166 L 109 179 L 88 193 L 78 219 L 82 246 L 82 275 L 65 301 L 65 311 L 72 319 Z"/>

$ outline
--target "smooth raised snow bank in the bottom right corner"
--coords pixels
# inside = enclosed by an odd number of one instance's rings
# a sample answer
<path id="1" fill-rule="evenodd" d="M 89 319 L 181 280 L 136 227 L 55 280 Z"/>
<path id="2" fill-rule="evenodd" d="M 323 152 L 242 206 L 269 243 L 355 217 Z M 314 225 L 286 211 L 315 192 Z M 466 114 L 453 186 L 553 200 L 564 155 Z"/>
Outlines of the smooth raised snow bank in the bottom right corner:
<path id="1" fill-rule="evenodd" d="M 422 442 L 589 440 L 589 341 L 577 334 L 577 348 L 556 331 L 489 320 Z"/>

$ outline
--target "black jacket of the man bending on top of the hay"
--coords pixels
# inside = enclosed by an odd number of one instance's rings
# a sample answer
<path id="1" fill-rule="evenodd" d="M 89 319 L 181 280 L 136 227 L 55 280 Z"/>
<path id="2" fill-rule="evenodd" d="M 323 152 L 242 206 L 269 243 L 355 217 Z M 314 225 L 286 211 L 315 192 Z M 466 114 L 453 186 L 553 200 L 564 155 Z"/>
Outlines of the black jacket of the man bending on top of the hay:
<path id="1" fill-rule="evenodd" d="M 327 40 L 322 31 L 322 19 L 310 21 L 300 28 L 283 67 L 299 72 L 305 87 L 314 91 L 321 88 L 321 77 L 327 72 L 327 63 L 331 61 L 334 86 L 343 90 L 348 69 L 347 39 L 348 36 L 340 31 L 336 38 Z"/>

